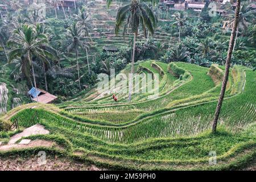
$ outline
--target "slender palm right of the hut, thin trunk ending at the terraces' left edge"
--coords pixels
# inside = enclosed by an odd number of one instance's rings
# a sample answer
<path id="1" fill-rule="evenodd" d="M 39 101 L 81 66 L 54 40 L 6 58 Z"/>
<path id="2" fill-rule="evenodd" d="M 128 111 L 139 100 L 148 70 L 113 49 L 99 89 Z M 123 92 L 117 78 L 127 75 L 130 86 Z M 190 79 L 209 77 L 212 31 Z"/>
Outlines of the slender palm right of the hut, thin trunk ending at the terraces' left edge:
<path id="1" fill-rule="evenodd" d="M 68 38 L 68 52 L 75 51 L 76 53 L 76 64 L 77 64 L 77 76 L 79 80 L 79 88 L 81 90 L 80 84 L 80 71 L 79 71 L 79 48 L 84 50 L 88 49 L 88 43 L 86 42 L 86 37 L 82 28 L 80 28 L 78 23 L 73 23 L 71 27 L 68 28 L 67 31 L 67 38 Z"/>

